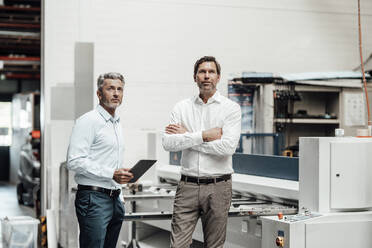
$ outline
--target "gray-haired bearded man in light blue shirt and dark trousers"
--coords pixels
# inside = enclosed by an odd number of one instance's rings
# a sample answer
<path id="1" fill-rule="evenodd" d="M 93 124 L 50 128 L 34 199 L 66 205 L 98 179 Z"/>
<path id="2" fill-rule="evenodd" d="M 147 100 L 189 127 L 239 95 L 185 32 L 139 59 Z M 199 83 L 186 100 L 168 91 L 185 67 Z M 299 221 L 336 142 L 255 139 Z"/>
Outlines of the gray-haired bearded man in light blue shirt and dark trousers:
<path id="1" fill-rule="evenodd" d="M 67 167 L 78 184 L 75 208 L 80 248 L 115 248 L 124 219 L 121 184 L 133 174 L 123 166 L 120 118 L 115 114 L 123 98 L 124 77 L 98 77 L 99 105 L 76 120 L 67 152 Z"/>

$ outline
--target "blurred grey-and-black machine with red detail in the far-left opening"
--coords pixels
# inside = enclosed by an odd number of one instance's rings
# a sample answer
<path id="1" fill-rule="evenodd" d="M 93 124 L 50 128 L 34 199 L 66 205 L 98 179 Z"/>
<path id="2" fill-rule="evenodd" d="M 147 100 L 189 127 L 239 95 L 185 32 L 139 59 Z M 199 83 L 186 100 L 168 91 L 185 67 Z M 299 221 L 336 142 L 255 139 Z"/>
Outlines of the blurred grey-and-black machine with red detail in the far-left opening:
<path id="1" fill-rule="evenodd" d="M 12 100 L 10 182 L 20 204 L 40 215 L 40 93 L 15 94 Z"/>

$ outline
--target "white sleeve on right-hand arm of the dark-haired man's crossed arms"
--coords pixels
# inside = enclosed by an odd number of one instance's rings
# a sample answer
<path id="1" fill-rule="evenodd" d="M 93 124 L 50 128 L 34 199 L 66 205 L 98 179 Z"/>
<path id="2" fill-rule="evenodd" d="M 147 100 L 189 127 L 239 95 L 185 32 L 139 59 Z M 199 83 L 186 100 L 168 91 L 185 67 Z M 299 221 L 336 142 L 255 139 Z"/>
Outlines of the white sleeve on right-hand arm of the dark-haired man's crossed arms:
<path id="1" fill-rule="evenodd" d="M 224 121 L 221 139 L 204 142 L 198 146 L 193 146 L 192 149 L 217 156 L 232 155 L 239 143 L 240 133 L 241 109 L 238 104 L 234 104 L 231 113 Z"/>

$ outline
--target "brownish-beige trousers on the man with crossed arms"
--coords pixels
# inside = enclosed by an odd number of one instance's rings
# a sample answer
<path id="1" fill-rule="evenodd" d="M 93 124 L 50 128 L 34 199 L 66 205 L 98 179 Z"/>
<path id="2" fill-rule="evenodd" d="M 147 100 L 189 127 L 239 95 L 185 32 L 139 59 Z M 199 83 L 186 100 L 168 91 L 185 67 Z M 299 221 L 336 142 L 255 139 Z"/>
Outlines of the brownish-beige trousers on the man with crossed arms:
<path id="1" fill-rule="evenodd" d="M 179 182 L 173 205 L 171 248 L 189 248 L 201 217 L 204 247 L 222 248 L 231 204 L 231 179 L 218 183 Z"/>

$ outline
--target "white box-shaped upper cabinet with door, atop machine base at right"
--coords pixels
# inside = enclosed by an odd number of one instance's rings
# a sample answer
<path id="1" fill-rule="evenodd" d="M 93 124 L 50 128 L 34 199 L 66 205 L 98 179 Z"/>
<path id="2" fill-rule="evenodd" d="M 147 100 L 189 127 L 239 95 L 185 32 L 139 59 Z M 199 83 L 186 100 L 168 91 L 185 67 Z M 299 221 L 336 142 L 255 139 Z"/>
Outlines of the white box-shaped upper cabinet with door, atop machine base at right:
<path id="1" fill-rule="evenodd" d="M 372 209 L 372 139 L 301 137 L 299 209 Z"/>

